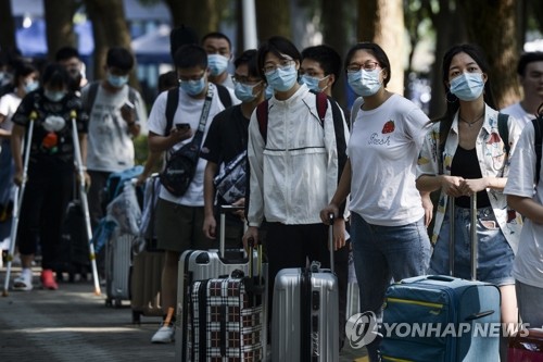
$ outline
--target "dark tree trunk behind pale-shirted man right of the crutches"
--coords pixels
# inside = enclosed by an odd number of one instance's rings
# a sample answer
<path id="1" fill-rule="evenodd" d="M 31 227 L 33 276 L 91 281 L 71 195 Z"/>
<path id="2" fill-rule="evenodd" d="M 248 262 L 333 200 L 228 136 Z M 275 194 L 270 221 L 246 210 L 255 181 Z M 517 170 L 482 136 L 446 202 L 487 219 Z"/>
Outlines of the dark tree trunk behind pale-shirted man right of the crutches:
<path id="1" fill-rule="evenodd" d="M 100 79 L 104 76 L 108 49 L 124 47 L 131 50 L 131 38 L 123 0 L 86 0 L 86 4 L 94 36 L 94 78 Z M 135 72 L 130 74 L 130 85 L 139 86 Z"/>

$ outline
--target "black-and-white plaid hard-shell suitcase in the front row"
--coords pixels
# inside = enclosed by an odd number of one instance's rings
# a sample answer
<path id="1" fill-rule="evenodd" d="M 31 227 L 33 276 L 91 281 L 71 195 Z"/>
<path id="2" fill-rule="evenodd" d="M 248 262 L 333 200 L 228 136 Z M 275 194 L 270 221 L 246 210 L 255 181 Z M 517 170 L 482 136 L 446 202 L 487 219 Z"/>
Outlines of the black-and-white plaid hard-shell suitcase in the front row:
<path id="1" fill-rule="evenodd" d="M 189 289 L 187 361 L 262 361 L 265 353 L 265 284 L 260 247 L 256 276 L 231 275 L 194 282 Z M 249 253 L 252 265 L 253 252 Z"/>

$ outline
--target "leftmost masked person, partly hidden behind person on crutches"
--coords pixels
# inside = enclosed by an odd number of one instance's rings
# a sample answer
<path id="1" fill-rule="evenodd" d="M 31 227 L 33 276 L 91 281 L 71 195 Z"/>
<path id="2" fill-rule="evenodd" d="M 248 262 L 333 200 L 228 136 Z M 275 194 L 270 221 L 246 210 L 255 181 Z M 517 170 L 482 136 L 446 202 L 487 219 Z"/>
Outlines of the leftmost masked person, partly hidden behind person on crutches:
<path id="1" fill-rule="evenodd" d="M 11 154 L 11 118 L 21 100 L 39 87 L 38 70 L 29 62 L 21 61 L 14 66 L 15 89 L 0 98 L 0 245 L 10 236 L 14 164 Z M 2 248 L 0 247 L 0 250 Z"/>

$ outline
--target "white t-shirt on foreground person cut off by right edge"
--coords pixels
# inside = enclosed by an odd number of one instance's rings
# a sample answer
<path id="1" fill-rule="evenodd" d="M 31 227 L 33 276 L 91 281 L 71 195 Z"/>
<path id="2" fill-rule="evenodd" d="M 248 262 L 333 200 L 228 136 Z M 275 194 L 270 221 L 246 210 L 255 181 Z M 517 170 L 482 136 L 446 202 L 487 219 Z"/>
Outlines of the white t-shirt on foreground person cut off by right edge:
<path id="1" fill-rule="evenodd" d="M 513 154 L 504 194 L 531 198 L 543 204 L 543 172 L 540 173 L 540 183 L 534 189 L 534 130 L 530 122 L 523 128 Z M 530 219 L 525 219 L 513 275 L 523 284 L 543 288 L 543 225 L 535 224 Z"/>

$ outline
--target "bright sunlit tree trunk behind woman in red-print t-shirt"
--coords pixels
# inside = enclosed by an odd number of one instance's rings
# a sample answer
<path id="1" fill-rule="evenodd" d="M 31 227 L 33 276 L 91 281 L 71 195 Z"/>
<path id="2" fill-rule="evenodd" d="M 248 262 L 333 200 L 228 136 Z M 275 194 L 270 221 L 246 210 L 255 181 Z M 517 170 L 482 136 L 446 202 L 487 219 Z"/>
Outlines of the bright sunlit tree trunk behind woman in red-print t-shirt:
<path id="1" fill-rule="evenodd" d="M 358 18 L 358 39 L 378 43 L 389 57 L 387 88 L 403 95 L 406 49 L 402 0 L 359 0 Z"/>

